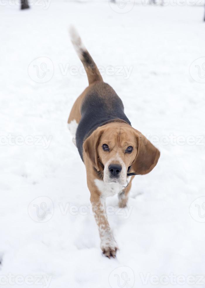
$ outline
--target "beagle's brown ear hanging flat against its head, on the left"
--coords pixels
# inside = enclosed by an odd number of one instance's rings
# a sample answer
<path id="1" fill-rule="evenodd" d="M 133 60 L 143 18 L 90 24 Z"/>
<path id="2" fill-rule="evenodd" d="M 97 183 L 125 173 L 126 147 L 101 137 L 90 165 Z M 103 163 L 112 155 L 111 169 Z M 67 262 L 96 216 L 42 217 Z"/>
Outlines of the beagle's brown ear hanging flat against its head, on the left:
<path id="1" fill-rule="evenodd" d="M 98 145 L 103 131 L 104 130 L 101 127 L 96 129 L 83 143 L 83 150 L 92 161 L 93 167 L 98 171 L 100 170 L 98 162 Z"/>

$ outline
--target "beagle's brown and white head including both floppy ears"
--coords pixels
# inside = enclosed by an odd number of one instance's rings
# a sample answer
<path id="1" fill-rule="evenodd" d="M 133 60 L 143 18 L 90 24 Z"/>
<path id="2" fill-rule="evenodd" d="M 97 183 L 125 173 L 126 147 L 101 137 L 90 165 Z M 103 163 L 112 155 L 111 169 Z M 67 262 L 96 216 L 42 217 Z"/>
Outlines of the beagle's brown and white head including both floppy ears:
<path id="1" fill-rule="evenodd" d="M 103 172 L 104 182 L 121 185 L 126 183 L 127 172 L 149 173 L 160 156 L 159 150 L 139 131 L 118 122 L 98 127 L 85 140 L 83 149 L 93 167 Z"/>

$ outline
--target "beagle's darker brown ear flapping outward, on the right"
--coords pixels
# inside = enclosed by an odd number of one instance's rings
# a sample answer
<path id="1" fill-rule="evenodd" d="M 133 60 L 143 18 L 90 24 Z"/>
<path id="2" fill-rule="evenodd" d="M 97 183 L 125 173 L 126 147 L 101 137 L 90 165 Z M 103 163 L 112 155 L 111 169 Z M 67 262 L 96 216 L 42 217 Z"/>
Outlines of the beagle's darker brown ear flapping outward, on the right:
<path id="1" fill-rule="evenodd" d="M 159 150 L 139 131 L 136 131 L 137 155 L 132 164 L 136 174 L 147 174 L 156 165 L 160 156 Z"/>

